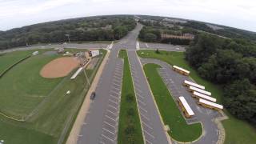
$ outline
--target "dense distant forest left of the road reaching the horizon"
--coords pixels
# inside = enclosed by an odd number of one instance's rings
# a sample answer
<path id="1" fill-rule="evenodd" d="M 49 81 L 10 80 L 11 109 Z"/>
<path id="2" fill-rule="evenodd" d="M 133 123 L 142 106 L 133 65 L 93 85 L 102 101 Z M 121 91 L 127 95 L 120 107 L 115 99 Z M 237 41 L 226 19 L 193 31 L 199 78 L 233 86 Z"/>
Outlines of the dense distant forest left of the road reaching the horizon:
<path id="1" fill-rule="evenodd" d="M 136 26 L 133 16 L 113 15 L 66 19 L 0 31 L 0 50 L 37 43 L 114 40 Z"/>

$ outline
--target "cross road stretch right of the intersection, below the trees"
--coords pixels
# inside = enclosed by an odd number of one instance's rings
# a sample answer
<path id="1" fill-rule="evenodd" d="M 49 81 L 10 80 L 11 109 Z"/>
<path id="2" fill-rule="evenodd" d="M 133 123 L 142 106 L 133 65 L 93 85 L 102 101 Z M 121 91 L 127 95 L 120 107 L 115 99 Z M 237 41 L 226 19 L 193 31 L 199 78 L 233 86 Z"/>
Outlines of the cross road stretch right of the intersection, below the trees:
<path id="1" fill-rule="evenodd" d="M 174 46 L 169 44 L 162 43 L 146 43 L 139 42 L 139 46 L 141 50 L 166 50 L 166 51 L 185 51 L 185 46 Z"/>

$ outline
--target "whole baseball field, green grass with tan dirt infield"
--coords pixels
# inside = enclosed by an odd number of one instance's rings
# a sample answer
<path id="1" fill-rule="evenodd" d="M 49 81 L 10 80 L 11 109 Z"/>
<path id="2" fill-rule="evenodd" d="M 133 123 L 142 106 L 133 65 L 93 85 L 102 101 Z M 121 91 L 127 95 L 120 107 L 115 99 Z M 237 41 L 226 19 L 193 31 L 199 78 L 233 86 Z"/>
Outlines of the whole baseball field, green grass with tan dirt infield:
<path id="1" fill-rule="evenodd" d="M 77 59 L 53 49 L 31 55 L 34 51 L 0 55 L 0 74 L 7 70 L 0 77 L 0 140 L 8 144 L 64 143 L 89 88 L 85 73 L 71 80 L 78 69 Z M 90 82 L 106 50 L 101 52 L 94 69 L 86 70 Z"/>

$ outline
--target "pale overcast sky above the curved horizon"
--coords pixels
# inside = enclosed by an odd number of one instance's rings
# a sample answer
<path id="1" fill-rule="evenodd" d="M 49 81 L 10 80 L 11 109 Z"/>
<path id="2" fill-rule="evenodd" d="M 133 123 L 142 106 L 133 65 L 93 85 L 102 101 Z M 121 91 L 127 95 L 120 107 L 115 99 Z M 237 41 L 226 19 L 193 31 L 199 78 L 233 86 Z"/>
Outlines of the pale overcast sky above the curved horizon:
<path id="1" fill-rule="evenodd" d="M 255 0 L 0 0 L 0 30 L 106 14 L 187 18 L 256 32 Z"/>

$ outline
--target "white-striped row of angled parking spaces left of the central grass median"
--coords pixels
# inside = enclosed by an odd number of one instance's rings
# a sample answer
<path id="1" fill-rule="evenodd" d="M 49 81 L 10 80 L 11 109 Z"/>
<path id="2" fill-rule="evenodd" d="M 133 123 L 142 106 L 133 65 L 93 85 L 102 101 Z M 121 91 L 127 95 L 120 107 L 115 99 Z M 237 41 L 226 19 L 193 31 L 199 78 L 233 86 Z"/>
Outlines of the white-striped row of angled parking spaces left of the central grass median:
<path id="1" fill-rule="evenodd" d="M 117 143 L 119 108 L 122 90 L 122 66 L 123 62 L 118 61 L 114 67 L 113 79 L 110 86 L 110 97 L 103 116 L 102 134 L 100 136 L 99 143 Z"/>

